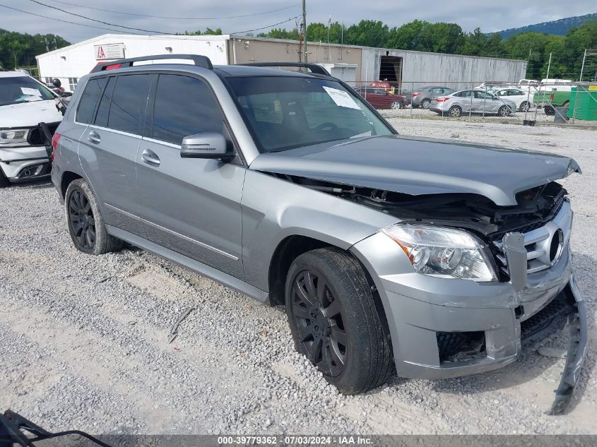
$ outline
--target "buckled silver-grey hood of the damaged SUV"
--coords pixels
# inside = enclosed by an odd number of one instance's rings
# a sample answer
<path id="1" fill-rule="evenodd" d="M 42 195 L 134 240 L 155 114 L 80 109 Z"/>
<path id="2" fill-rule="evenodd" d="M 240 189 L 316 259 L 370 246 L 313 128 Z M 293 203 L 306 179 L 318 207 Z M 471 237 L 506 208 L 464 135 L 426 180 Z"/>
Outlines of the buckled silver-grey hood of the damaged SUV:
<path id="1" fill-rule="evenodd" d="M 580 172 L 572 158 L 453 141 L 379 136 L 258 155 L 251 169 L 418 196 L 475 193 L 516 205 L 516 193 Z"/>

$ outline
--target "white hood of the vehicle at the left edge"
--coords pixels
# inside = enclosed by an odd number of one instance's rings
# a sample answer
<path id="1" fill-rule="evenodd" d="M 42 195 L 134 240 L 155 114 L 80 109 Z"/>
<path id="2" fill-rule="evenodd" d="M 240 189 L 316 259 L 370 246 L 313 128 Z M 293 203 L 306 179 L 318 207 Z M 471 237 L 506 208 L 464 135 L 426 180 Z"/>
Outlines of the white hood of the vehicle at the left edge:
<path id="1" fill-rule="evenodd" d="M 37 126 L 41 122 L 55 123 L 62 121 L 54 100 L 20 102 L 19 104 L 0 106 L 0 129 L 6 127 Z"/>

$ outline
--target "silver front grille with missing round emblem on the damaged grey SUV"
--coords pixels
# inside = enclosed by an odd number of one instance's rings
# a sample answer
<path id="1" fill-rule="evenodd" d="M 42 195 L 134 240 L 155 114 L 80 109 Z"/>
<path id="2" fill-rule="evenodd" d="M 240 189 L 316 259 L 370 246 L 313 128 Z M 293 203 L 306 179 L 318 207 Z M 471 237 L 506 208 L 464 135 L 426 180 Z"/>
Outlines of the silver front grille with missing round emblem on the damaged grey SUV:
<path id="1" fill-rule="evenodd" d="M 517 232 L 524 235 L 526 272 L 532 274 L 554 266 L 568 244 L 571 229 L 572 210 L 568 201 L 562 201 L 552 220 L 517 229 Z M 502 273 L 509 275 L 507 254 L 502 239 L 495 241 L 494 245 L 497 266 Z"/>

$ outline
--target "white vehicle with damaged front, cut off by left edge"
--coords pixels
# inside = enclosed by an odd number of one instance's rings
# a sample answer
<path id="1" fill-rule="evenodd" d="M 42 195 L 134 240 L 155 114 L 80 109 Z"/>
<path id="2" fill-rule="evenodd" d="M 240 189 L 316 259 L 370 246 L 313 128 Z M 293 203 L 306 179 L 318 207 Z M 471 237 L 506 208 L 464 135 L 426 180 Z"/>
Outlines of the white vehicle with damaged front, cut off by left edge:
<path id="1" fill-rule="evenodd" d="M 0 71 L 0 187 L 49 177 L 52 163 L 39 124 L 54 132 L 62 114 L 44 84 L 16 71 Z"/>

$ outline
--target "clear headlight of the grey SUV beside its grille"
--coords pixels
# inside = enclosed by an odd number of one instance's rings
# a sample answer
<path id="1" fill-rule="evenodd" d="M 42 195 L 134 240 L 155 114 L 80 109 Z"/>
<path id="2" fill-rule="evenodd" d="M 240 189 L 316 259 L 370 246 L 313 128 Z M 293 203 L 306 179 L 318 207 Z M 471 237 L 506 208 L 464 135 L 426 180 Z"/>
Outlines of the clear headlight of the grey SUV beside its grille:
<path id="1" fill-rule="evenodd" d="M 382 231 L 401 246 L 418 273 L 477 282 L 497 280 L 483 244 L 468 232 L 409 224 Z"/>

